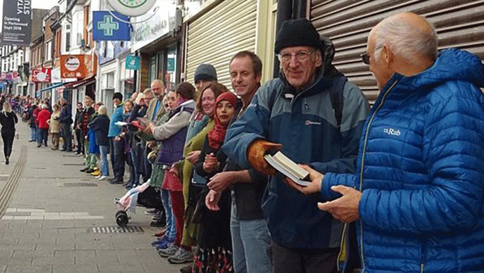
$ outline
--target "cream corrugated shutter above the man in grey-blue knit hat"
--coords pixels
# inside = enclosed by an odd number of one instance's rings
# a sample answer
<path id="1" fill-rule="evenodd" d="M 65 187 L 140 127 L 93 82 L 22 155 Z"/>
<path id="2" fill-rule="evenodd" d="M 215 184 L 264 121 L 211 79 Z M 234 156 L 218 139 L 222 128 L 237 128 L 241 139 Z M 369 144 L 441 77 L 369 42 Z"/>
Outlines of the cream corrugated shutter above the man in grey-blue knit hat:
<path id="1" fill-rule="evenodd" d="M 218 82 L 231 89 L 229 60 L 241 50 L 255 51 L 256 0 L 225 0 L 188 22 L 186 81 L 201 63 L 211 63 Z"/>

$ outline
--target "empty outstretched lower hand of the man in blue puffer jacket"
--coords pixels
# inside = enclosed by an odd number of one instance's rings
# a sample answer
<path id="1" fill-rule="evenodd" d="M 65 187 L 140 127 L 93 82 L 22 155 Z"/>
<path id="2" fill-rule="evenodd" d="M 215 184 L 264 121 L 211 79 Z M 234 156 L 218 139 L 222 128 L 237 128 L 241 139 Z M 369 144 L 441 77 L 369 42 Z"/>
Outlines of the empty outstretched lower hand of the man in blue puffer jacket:
<path id="1" fill-rule="evenodd" d="M 360 199 L 362 192 L 344 185 L 334 185 L 331 187 L 334 192 L 339 192 L 342 197 L 325 203 L 318 203 L 320 210 L 328 211 L 334 219 L 341 222 L 350 223 L 360 219 Z"/>

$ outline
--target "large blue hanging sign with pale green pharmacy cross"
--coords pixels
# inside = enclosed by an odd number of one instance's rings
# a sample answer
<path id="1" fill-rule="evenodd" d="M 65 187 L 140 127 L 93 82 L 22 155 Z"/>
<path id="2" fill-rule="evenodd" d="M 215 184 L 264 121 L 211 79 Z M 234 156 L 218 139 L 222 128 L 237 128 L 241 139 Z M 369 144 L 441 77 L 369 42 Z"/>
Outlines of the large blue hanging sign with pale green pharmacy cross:
<path id="1" fill-rule="evenodd" d="M 124 21 L 124 22 L 122 22 Z M 129 41 L 129 18 L 116 12 L 92 12 L 92 39 L 95 41 Z"/>

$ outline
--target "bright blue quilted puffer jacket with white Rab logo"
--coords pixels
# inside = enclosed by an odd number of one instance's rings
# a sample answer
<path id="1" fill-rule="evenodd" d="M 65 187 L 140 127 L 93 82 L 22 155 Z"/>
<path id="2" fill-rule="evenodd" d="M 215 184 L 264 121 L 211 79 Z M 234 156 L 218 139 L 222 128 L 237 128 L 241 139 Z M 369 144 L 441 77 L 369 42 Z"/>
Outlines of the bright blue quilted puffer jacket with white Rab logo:
<path id="1" fill-rule="evenodd" d="M 357 174 L 326 174 L 362 191 L 364 272 L 484 272 L 484 87 L 481 60 L 444 50 L 380 92 L 360 140 Z"/>

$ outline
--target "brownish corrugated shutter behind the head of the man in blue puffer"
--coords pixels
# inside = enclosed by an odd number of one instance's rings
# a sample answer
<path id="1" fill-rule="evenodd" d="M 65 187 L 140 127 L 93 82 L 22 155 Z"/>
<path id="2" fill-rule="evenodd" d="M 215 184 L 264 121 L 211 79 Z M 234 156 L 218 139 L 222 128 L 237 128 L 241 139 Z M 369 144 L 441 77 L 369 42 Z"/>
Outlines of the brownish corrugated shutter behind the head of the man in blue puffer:
<path id="1" fill-rule="evenodd" d="M 376 99 L 378 89 L 360 53 L 366 50 L 366 38 L 373 26 L 403 11 L 423 15 L 434 24 L 439 49 L 457 47 L 484 58 L 483 0 L 312 0 L 309 17 L 319 33 L 334 42 L 334 65 L 371 101 Z"/>

